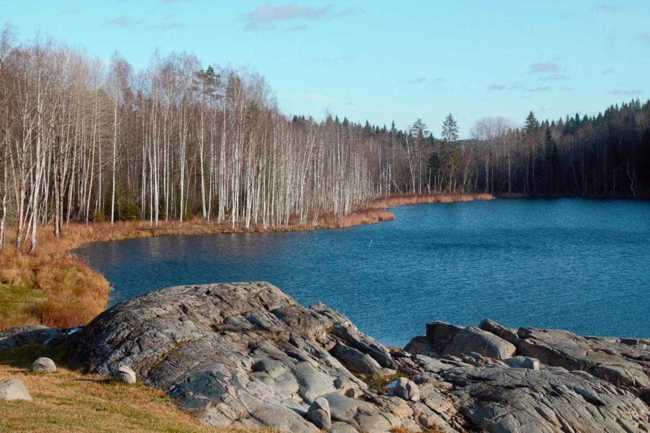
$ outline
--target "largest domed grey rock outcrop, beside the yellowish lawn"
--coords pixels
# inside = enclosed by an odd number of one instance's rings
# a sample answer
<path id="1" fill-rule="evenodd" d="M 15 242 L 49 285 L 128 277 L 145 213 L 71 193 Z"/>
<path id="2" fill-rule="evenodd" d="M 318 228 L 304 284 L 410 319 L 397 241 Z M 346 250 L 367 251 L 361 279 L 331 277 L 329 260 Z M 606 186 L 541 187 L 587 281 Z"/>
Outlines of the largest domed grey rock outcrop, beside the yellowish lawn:
<path id="1" fill-rule="evenodd" d="M 351 370 L 395 373 L 378 360 L 398 366 L 338 311 L 304 308 L 261 282 L 149 293 L 107 309 L 70 338 L 68 362 L 102 375 L 128 365 L 220 428 L 316 430 L 305 416 L 318 397 L 330 404 L 332 426 L 359 428 L 358 415 L 383 408 L 364 400 L 371 391 Z"/>

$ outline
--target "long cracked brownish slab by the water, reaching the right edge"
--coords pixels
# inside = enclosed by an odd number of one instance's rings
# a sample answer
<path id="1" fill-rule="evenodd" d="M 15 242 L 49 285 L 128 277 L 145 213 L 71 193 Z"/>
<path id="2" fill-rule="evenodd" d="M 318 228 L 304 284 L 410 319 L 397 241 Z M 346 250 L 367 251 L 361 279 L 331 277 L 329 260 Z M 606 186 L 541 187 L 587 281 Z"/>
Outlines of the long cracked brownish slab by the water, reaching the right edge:
<path id="1" fill-rule="evenodd" d="M 587 371 L 650 402 L 647 340 L 580 337 L 564 330 L 536 328 L 519 328 L 517 335 L 519 354 L 552 367 Z"/>

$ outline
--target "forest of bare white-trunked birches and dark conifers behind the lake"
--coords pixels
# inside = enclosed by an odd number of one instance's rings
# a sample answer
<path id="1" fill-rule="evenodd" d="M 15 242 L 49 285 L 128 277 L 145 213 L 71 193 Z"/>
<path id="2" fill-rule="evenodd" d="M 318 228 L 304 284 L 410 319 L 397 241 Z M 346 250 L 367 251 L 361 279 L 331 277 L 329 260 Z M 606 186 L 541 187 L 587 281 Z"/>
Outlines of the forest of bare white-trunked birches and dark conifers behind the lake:
<path id="1" fill-rule="evenodd" d="M 459 140 L 285 116 L 264 77 L 154 53 L 135 70 L 82 49 L 0 33 L 0 247 L 34 250 L 72 222 L 315 224 L 389 194 L 650 194 L 650 101 L 523 125 L 478 120 Z"/>

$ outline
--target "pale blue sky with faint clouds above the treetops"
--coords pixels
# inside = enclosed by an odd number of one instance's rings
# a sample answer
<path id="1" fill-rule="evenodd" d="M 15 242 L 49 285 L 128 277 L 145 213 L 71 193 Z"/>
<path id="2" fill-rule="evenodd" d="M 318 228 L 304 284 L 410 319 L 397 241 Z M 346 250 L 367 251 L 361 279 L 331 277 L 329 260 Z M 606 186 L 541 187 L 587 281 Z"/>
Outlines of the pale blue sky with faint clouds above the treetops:
<path id="1" fill-rule="evenodd" d="M 0 0 L 20 40 L 46 34 L 136 69 L 152 53 L 261 73 L 285 114 L 439 137 L 454 114 L 523 124 L 650 98 L 650 1 Z"/>

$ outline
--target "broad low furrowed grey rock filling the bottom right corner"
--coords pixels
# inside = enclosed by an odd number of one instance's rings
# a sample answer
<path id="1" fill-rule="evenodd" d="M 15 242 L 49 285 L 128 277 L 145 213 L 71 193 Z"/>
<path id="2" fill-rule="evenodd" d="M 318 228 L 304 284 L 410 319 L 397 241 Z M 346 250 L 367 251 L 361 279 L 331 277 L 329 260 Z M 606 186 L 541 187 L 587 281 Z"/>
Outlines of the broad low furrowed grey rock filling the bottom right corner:
<path id="1" fill-rule="evenodd" d="M 441 373 L 460 412 L 488 432 L 638 431 L 647 406 L 590 374 L 510 367 L 461 367 Z"/>

